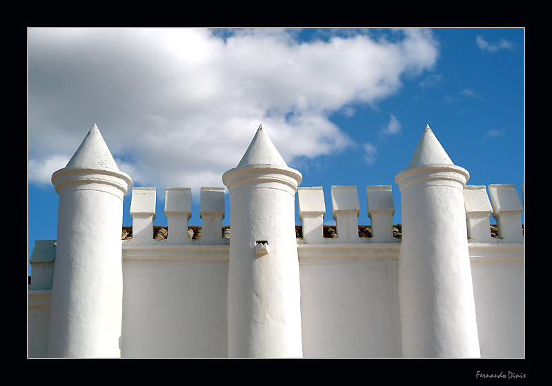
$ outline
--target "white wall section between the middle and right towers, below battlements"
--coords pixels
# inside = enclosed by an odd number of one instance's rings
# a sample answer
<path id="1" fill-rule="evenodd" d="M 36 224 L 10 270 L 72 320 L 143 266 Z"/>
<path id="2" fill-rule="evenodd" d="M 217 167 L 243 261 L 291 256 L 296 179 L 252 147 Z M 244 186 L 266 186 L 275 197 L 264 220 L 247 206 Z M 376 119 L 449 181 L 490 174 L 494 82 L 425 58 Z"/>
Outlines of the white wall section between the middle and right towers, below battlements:
<path id="1" fill-rule="evenodd" d="M 402 356 L 399 246 L 299 245 L 305 357 Z"/>

